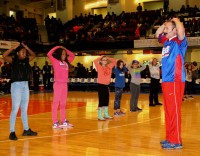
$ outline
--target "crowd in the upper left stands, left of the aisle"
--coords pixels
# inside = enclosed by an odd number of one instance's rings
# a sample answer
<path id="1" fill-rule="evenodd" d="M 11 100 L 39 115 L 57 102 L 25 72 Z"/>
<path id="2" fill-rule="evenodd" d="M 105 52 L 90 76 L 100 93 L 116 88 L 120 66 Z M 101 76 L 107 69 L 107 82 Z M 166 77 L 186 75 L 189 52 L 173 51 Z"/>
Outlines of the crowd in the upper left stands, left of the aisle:
<path id="1" fill-rule="evenodd" d="M 38 40 L 38 27 L 35 18 L 16 20 L 0 15 L 0 40 L 27 41 L 35 43 Z"/>

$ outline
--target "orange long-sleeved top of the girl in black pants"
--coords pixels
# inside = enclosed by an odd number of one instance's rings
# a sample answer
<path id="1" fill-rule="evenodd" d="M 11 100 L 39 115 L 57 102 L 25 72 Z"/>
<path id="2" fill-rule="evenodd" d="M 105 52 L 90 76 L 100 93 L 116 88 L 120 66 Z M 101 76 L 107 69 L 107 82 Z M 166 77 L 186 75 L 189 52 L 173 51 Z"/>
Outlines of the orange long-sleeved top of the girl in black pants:
<path id="1" fill-rule="evenodd" d="M 97 72 L 98 72 L 98 83 L 104 84 L 104 85 L 109 85 L 111 74 L 112 74 L 112 68 L 115 66 L 116 60 L 113 58 L 108 58 L 108 60 L 111 61 L 111 63 L 109 63 L 106 66 L 100 65 L 99 64 L 100 60 L 101 60 L 101 57 L 94 60 L 94 64 L 95 64 L 95 66 L 97 68 Z"/>

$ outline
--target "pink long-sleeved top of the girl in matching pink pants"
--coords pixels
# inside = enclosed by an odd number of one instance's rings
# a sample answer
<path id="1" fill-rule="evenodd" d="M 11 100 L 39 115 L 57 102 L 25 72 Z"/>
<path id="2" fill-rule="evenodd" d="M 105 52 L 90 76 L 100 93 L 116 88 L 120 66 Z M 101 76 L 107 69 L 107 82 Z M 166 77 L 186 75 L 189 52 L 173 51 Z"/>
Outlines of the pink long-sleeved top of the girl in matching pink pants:
<path id="1" fill-rule="evenodd" d="M 57 60 L 56 58 L 54 58 L 52 56 L 52 54 L 58 48 L 60 48 L 60 46 L 56 46 L 56 47 L 52 48 L 47 54 L 47 56 L 49 57 L 52 65 L 53 65 L 54 82 L 68 82 L 68 73 L 69 73 L 68 64 L 65 61 L 61 62 L 60 60 Z M 71 63 L 74 60 L 75 55 L 69 50 L 66 50 L 66 53 L 67 53 L 67 55 L 69 55 L 68 61 Z"/>

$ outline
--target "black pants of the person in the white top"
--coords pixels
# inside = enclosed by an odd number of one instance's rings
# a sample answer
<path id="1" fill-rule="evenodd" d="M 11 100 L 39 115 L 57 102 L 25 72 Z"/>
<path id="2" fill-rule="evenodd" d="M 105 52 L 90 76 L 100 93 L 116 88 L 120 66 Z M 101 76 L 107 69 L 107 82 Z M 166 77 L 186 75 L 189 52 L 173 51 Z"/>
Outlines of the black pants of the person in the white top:
<path id="1" fill-rule="evenodd" d="M 158 92 L 160 88 L 160 79 L 151 78 L 149 104 L 158 104 Z M 155 103 L 153 103 L 153 101 Z"/>

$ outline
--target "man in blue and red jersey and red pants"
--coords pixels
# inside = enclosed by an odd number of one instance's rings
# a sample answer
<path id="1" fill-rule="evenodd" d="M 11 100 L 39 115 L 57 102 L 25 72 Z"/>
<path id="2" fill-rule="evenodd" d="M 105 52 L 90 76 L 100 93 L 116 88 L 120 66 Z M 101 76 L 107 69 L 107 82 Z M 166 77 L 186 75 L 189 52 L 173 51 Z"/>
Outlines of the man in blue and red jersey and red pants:
<path id="1" fill-rule="evenodd" d="M 156 31 L 162 49 L 162 90 L 164 98 L 166 139 L 163 149 L 180 149 L 181 104 L 185 87 L 184 58 L 187 50 L 185 28 L 178 18 L 172 18 Z"/>

